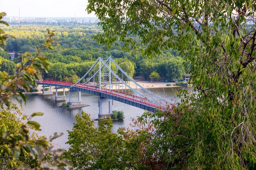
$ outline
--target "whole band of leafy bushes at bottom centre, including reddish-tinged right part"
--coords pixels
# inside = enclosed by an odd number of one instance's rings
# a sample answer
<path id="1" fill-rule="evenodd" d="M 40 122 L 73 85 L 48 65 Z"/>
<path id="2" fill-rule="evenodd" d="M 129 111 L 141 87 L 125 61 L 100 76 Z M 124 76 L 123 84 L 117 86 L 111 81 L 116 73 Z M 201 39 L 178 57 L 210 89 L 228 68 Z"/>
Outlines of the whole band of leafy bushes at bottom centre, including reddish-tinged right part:
<path id="1" fill-rule="evenodd" d="M 112 119 L 101 119 L 96 128 L 87 113 L 76 115 L 76 123 L 69 131 L 70 148 L 65 155 L 72 161 L 73 169 L 170 169 L 171 163 L 165 163 L 162 155 L 148 147 L 155 144 L 152 124 L 143 126 L 133 119 L 130 128 L 120 128 L 117 133 L 112 133 L 111 128 Z"/>

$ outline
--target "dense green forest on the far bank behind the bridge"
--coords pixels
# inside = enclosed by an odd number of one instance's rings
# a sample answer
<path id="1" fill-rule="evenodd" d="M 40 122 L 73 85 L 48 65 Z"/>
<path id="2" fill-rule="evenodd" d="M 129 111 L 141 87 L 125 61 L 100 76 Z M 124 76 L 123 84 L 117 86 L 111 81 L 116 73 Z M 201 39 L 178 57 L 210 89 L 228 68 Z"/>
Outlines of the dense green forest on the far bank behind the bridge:
<path id="1" fill-rule="evenodd" d="M 34 57 L 37 48 L 43 44 L 46 30 L 54 31 L 53 49 L 45 49 L 41 55 L 50 62 L 50 70 L 45 73 L 45 77 L 56 80 L 76 81 L 99 57 L 111 56 L 131 77 L 142 75 L 146 80 L 158 80 L 160 77 L 166 81 L 180 80 L 188 65 L 177 51 L 166 50 L 155 59 L 146 59 L 140 54 L 123 51 L 124 44 L 121 42 L 111 48 L 97 44 L 92 39 L 102 31 L 97 24 L 12 24 L 4 29 L 7 34 L 15 37 L 7 40 L 7 51 L 16 52 L 14 63 L 20 62 L 18 53 L 22 55 L 30 51 L 29 55 Z M 9 59 L 7 52 L 1 52 L 0 56 Z"/>

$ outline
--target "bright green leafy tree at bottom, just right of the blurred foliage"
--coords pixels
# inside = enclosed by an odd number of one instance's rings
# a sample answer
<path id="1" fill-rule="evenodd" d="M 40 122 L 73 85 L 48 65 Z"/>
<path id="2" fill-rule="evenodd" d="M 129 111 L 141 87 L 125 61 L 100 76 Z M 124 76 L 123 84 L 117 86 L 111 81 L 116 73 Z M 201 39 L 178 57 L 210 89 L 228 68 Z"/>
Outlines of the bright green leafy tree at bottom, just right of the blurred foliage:
<path id="1" fill-rule="evenodd" d="M 66 155 L 74 169 L 109 170 L 118 164 L 117 152 L 121 143 L 117 134 L 111 132 L 112 126 L 112 120 L 105 118 L 99 121 L 97 129 L 88 114 L 76 115 L 76 123 L 72 131 L 68 131 L 70 148 Z M 121 165 L 114 167 L 122 168 Z"/>

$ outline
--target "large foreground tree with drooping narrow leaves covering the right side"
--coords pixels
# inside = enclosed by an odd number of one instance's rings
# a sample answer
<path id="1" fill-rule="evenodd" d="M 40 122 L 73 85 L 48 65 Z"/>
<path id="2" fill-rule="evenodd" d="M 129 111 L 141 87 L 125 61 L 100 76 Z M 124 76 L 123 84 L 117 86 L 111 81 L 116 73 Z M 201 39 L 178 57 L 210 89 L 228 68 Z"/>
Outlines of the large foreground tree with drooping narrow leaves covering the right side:
<path id="1" fill-rule="evenodd" d="M 180 51 L 194 90 L 166 112 L 146 113 L 154 146 L 177 169 L 256 167 L 256 4 L 253 0 L 88 0 L 106 46 L 156 56 Z M 163 116 L 166 116 L 163 118 Z M 142 123 L 146 123 L 141 119 Z M 152 146 L 151 149 L 156 149 Z M 156 150 L 157 151 L 157 150 Z"/>

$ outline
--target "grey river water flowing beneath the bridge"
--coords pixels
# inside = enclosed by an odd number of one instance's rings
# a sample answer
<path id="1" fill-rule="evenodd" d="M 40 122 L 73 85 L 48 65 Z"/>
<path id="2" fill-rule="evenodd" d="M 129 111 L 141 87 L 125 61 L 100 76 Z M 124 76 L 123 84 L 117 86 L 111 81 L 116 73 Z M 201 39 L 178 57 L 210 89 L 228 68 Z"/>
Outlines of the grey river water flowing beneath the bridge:
<path id="1" fill-rule="evenodd" d="M 179 101 L 176 96 L 176 91 L 181 87 L 168 87 L 168 88 L 151 88 L 157 95 L 164 97 L 168 100 Z M 185 87 L 186 88 L 186 87 Z M 186 88 L 187 89 L 187 88 Z M 62 95 L 62 92 L 58 92 L 58 95 Z M 54 146 L 58 148 L 68 149 L 69 146 L 65 144 L 67 142 L 68 133 L 67 130 L 72 130 L 73 124 L 76 122 L 75 115 L 81 114 L 82 110 L 86 113 L 90 113 L 91 119 L 97 119 L 99 113 L 98 98 L 99 96 L 90 95 L 87 93 L 81 93 L 82 104 L 88 104 L 90 106 L 75 109 L 64 109 L 61 108 L 61 104 L 64 101 L 56 102 L 54 101 L 55 95 L 42 96 L 40 94 L 26 94 L 27 104 L 21 104 L 23 108 L 23 113 L 31 115 L 34 112 L 43 112 L 43 116 L 34 117 L 33 120 L 37 121 L 41 125 L 41 131 L 38 132 L 39 135 L 45 135 L 47 138 L 54 134 L 54 132 L 61 133 L 64 135 L 54 139 L 52 142 Z M 73 93 L 73 100 L 77 99 L 78 93 Z M 66 93 L 66 102 L 69 101 L 69 96 Z M 107 105 L 107 104 L 106 104 Z M 107 107 L 104 111 L 107 112 Z M 141 116 L 144 110 L 124 104 L 121 102 L 113 101 L 112 110 L 123 110 L 124 120 L 113 121 L 113 131 L 116 132 L 118 128 L 122 126 L 129 126 L 132 122 L 132 118 Z M 94 121 L 95 126 L 97 126 L 97 121 Z"/>

